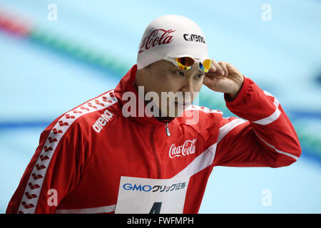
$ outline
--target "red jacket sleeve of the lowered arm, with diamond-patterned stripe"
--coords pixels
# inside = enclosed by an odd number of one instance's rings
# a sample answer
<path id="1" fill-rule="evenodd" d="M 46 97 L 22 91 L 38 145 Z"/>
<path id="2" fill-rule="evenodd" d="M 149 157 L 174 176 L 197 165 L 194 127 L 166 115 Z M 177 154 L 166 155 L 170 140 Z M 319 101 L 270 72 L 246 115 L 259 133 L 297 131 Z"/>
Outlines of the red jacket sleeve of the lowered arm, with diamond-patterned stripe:
<path id="1" fill-rule="evenodd" d="M 61 199 L 77 184 L 89 146 L 80 125 L 65 117 L 41 133 L 6 213 L 55 213 Z"/>

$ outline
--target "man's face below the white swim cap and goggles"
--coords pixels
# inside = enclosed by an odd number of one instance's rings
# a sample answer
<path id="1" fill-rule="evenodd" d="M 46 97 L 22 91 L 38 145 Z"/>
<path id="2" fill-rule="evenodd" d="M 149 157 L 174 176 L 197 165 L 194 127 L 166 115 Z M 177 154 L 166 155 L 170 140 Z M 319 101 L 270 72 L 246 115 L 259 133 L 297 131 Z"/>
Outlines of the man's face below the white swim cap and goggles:
<path id="1" fill-rule="evenodd" d="M 139 86 L 144 86 L 145 93 L 153 91 L 158 94 L 159 100 L 154 103 L 163 114 L 178 117 L 193 103 L 203 85 L 205 74 L 197 64 L 194 63 L 189 70 L 180 70 L 169 61 L 157 61 L 138 70 L 138 75 L 141 75 L 137 78 L 141 80 Z"/>

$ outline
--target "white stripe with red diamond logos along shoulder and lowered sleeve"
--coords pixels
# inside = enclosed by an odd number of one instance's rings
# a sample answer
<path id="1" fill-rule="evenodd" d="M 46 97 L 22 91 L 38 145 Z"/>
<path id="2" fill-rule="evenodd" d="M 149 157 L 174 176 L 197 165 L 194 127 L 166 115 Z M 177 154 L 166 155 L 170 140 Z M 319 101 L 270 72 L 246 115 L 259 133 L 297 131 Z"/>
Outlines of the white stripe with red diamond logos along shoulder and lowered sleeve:
<path id="1" fill-rule="evenodd" d="M 35 212 L 41 187 L 44 182 L 44 177 L 46 177 L 46 171 L 47 167 L 49 167 L 51 157 L 56 150 L 58 142 L 61 140 L 63 134 L 66 133 L 71 124 L 82 115 L 108 108 L 108 106 L 113 105 L 116 102 L 117 99 L 113 94 L 113 90 L 111 90 L 110 92 L 103 94 L 98 98 L 93 98 L 93 100 L 89 100 L 83 105 L 80 105 L 68 113 L 65 113 L 62 118 L 58 120 L 54 128 L 52 128 L 51 132 L 49 133 L 46 144 L 44 145 L 41 154 L 36 161 L 34 170 L 31 172 L 28 185 L 24 191 L 24 196 L 21 199 L 21 204 L 18 210 L 19 214 L 32 214 Z"/>

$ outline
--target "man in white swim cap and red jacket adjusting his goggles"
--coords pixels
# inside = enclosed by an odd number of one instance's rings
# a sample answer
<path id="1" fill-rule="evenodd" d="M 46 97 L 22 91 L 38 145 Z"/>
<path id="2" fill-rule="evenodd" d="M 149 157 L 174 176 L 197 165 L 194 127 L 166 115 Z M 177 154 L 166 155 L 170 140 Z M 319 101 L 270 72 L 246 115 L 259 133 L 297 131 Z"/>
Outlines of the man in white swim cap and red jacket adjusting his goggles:
<path id="1" fill-rule="evenodd" d="M 192 105 L 203 84 L 240 118 Z M 195 22 L 166 15 L 115 90 L 44 130 L 6 212 L 197 213 L 213 167 L 282 167 L 300 154 L 277 99 L 208 58 Z"/>

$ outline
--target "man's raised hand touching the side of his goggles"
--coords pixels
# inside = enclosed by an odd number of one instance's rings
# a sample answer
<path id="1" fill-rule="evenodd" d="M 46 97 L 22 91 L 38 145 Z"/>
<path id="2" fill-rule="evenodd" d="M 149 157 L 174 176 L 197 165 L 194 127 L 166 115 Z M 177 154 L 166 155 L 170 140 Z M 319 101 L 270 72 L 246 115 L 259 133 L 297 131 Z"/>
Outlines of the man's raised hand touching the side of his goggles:
<path id="1" fill-rule="evenodd" d="M 205 73 L 203 84 L 216 92 L 228 93 L 230 98 L 234 99 L 243 81 L 243 74 L 238 71 L 238 68 L 223 61 L 216 63 L 212 59 L 212 66 L 210 66 L 210 71 Z"/>

